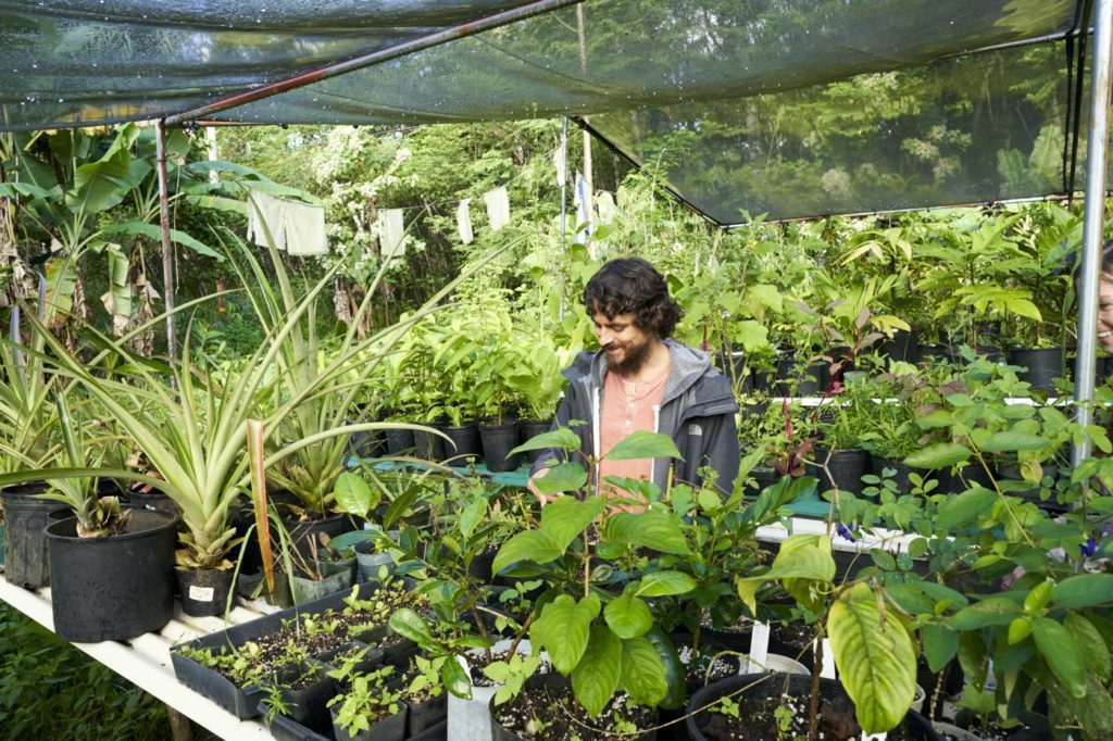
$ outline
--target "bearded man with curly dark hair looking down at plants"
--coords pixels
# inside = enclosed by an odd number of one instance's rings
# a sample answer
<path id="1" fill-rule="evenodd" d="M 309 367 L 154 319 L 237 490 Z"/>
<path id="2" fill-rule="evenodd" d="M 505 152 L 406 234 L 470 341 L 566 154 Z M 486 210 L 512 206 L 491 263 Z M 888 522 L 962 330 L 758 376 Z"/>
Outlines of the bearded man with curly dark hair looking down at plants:
<path id="1" fill-rule="evenodd" d="M 710 466 L 719 474 L 717 486 L 730 492 L 738 476 L 738 405 L 730 382 L 705 353 L 669 339 L 682 309 L 661 274 L 641 258 L 611 260 L 588 281 L 582 302 L 599 350 L 581 353 L 563 372 L 570 383 L 556 425 L 587 422 L 573 429 L 580 449 L 595 460 L 640 429 L 670 436 L 683 456 L 602 461 L 589 491 L 597 492 L 607 476 L 643 478 L 663 490 L 676 465 L 674 480 L 692 484 L 702 483 L 699 470 Z M 546 461 L 562 457 L 562 451 L 542 454 L 531 480 L 548 472 Z"/>

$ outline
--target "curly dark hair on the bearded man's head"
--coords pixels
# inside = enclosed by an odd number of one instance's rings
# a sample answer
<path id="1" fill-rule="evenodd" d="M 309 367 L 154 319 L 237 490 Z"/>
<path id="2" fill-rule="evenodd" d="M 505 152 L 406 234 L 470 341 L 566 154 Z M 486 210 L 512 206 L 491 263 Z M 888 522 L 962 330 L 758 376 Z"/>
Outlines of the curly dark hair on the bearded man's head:
<path id="1" fill-rule="evenodd" d="M 581 300 L 589 316 L 599 313 L 613 319 L 619 314 L 633 314 L 634 326 L 662 339 L 672 335 L 684 315 L 680 304 L 669 296 L 664 277 L 640 257 L 605 263 L 591 276 Z"/>

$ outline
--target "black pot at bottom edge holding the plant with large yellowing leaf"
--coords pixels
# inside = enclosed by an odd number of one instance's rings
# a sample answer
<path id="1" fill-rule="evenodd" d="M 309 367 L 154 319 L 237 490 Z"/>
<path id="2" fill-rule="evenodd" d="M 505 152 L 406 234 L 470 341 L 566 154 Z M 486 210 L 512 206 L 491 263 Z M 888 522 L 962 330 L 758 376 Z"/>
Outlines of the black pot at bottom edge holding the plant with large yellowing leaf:
<path id="1" fill-rule="evenodd" d="M 788 693 L 807 698 L 810 695 L 811 678 L 796 674 L 741 674 L 739 676 L 728 676 L 712 684 L 708 684 L 699 690 L 688 701 L 688 719 L 684 725 L 688 729 L 689 738 L 695 741 L 703 741 L 702 728 L 708 722 L 711 714 L 709 710 L 700 710 L 705 705 L 713 703 L 719 698 L 731 694 L 741 688 L 754 685 L 742 693 L 748 698 L 779 698 L 788 686 Z M 837 713 L 837 717 L 845 718 L 849 724 L 854 720 L 854 703 L 847 696 L 843 685 L 835 680 L 820 679 L 819 694 L 825 700 L 820 703 L 821 712 L 826 717 Z M 699 711 L 699 712 L 697 712 Z M 919 713 L 909 711 L 898 728 L 902 728 L 909 739 L 922 741 L 937 741 L 939 735 L 932 728 L 926 718 Z"/>

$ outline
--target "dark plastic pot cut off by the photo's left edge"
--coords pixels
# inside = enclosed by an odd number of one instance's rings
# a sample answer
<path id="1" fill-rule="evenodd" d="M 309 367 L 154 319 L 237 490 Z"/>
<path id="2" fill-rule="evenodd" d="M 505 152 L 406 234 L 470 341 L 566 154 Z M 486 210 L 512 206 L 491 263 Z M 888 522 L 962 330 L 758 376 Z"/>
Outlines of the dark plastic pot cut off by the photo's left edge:
<path id="1" fill-rule="evenodd" d="M 45 491 L 46 484 L 35 483 L 0 492 L 7 528 L 3 542 L 4 576 L 9 583 L 27 590 L 50 584 L 50 561 L 47 557 L 47 539 L 42 528 L 49 524 L 50 513 L 60 505 L 53 500 L 40 500 L 37 496 Z"/>

